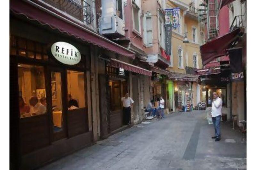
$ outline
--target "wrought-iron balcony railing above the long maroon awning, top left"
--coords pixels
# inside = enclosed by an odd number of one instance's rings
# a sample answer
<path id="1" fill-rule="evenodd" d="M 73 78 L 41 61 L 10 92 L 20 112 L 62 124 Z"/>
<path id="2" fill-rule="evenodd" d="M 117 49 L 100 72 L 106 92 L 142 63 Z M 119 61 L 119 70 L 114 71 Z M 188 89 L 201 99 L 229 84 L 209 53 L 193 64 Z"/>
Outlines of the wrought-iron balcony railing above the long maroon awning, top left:
<path id="1" fill-rule="evenodd" d="M 94 20 L 91 5 L 84 0 L 44 0 L 46 3 L 90 25 Z"/>

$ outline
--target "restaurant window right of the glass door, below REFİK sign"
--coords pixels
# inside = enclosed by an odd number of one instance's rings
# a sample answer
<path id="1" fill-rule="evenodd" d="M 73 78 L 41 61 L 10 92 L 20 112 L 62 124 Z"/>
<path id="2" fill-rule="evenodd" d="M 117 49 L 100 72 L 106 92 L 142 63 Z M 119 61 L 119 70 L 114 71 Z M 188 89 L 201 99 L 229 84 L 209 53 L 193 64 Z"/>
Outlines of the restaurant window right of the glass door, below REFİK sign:
<path id="1" fill-rule="evenodd" d="M 68 110 L 85 107 L 84 72 L 67 70 Z"/>

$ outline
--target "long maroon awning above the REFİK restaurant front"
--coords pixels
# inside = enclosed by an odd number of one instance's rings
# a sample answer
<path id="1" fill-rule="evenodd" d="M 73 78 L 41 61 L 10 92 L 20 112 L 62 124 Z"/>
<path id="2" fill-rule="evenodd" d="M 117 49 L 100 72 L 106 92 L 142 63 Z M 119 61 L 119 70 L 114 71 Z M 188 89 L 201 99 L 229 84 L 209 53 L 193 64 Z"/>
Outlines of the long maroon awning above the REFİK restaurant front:
<path id="1" fill-rule="evenodd" d="M 135 53 L 131 50 L 102 37 L 100 34 L 86 29 L 84 26 L 81 26 L 70 19 L 58 15 L 58 11 L 54 8 L 47 10 L 38 4 L 31 5 L 28 4 L 28 2 L 21 0 L 11 0 L 10 9 L 15 14 L 25 15 L 28 19 L 36 20 L 42 25 L 50 26 L 52 29 L 58 29 L 61 33 L 67 33 L 71 36 L 73 35 L 83 41 L 92 43 L 93 45 L 105 48 L 120 55 L 131 57 L 133 59 L 135 58 Z"/>

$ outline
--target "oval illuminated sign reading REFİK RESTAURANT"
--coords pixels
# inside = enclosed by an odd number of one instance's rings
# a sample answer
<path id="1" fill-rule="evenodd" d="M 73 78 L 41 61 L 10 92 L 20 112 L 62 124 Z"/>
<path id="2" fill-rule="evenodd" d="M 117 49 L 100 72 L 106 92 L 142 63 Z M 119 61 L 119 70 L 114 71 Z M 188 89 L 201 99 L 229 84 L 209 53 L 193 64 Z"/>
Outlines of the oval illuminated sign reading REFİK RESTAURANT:
<path id="1" fill-rule="evenodd" d="M 59 62 L 75 65 L 81 60 L 81 53 L 76 47 L 67 42 L 55 42 L 52 44 L 51 52 Z"/>

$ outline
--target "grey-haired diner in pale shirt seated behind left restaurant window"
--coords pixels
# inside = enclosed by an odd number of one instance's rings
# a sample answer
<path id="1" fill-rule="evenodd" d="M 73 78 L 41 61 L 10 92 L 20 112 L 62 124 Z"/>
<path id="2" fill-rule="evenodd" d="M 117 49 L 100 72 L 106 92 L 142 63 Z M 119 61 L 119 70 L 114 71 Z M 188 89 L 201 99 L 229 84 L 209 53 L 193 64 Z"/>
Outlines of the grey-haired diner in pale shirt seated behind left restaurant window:
<path id="1" fill-rule="evenodd" d="M 29 104 L 31 105 L 30 108 L 30 115 L 42 115 L 46 113 L 46 107 L 42 105 L 40 102 L 38 102 L 38 99 L 36 96 L 32 96 L 29 100 Z"/>

